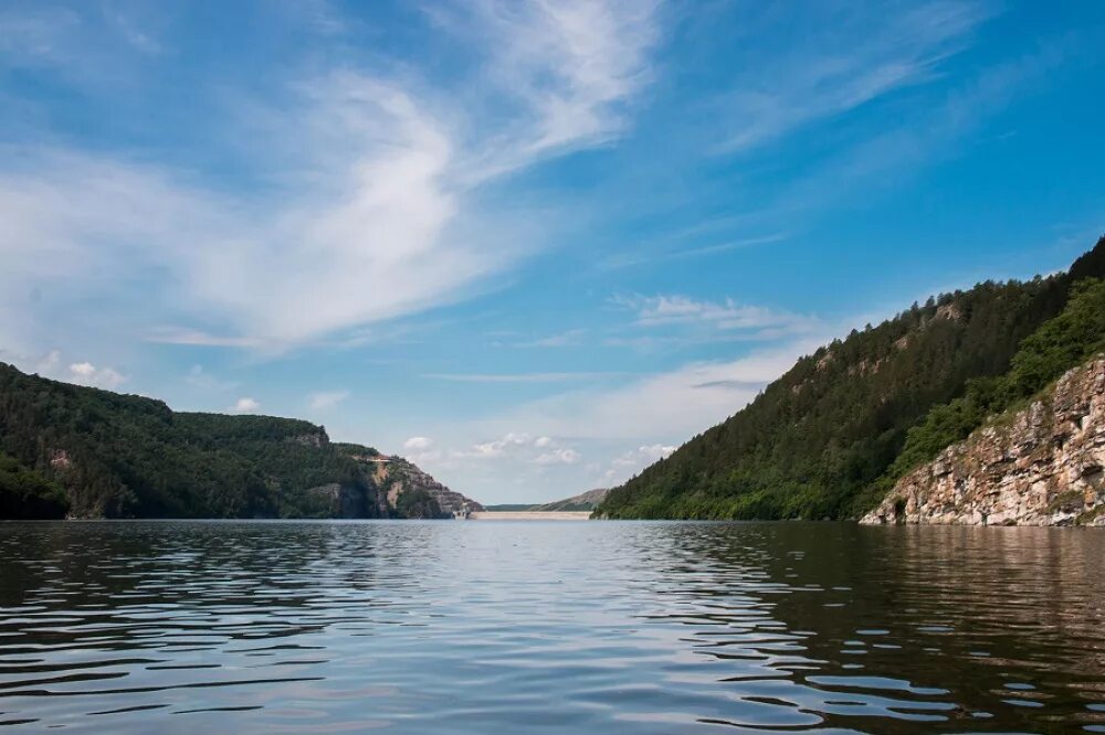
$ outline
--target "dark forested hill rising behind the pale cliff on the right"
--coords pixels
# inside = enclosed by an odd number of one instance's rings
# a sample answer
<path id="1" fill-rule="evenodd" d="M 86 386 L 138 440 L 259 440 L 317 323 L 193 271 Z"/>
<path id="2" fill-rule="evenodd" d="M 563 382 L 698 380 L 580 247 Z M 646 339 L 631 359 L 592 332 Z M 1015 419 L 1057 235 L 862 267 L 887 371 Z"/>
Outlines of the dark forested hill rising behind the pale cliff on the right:
<path id="1" fill-rule="evenodd" d="M 1004 385 L 998 379 L 1022 342 L 1064 310 L 1072 286 L 1102 277 L 1105 237 L 1066 273 L 987 281 L 853 330 L 801 358 L 724 423 L 611 490 L 596 514 L 859 516 L 911 462 L 964 438 L 972 428 L 966 424 L 978 417 L 947 428 L 948 416 L 959 415 L 956 407 L 969 396 Z M 1044 329 L 1036 339 L 1054 341 L 1061 331 Z M 972 411 L 986 404 L 971 404 Z"/>

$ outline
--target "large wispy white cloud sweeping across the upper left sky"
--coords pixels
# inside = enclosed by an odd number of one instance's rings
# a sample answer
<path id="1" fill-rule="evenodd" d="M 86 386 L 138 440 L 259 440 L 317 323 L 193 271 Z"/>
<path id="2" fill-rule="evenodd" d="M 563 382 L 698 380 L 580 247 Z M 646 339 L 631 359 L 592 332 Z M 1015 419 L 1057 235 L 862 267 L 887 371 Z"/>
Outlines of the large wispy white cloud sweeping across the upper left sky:
<path id="1" fill-rule="evenodd" d="M 75 305 L 97 299 L 94 328 L 283 350 L 486 287 L 547 228 L 520 206 L 482 209 L 477 187 L 615 135 L 648 78 L 657 26 L 650 4 L 456 12 L 473 51 L 492 56 L 476 85 L 485 100 L 472 105 L 410 70 L 401 81 L 373 68 L 271 89 L 280 102 L 256 103 L 250 121 L 263 132 L 239 136 L 281 162 L 253 172 L 263 194 L 235 198 L 123 156 L 6 151 L 0 315 L 24 323 L 0 323 L 0 337 L 86 332 Z M 49 298 L 31 308 L 33 289 Z"/>

